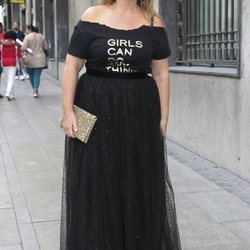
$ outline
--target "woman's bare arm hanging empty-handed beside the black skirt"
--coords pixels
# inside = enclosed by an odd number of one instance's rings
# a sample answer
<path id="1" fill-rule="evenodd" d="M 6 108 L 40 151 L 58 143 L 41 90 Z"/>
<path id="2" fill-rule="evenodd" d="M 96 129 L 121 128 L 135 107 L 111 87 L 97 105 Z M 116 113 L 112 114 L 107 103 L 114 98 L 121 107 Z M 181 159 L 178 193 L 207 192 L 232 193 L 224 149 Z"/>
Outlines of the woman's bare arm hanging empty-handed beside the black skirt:
<path id="1" fill-rule="evenodd" d="M 165 136 L 169 117 L 169 69 L 168 59 L 152 60 L 152 76 L 156 81 L 161 104 L 161 131 Z"/>

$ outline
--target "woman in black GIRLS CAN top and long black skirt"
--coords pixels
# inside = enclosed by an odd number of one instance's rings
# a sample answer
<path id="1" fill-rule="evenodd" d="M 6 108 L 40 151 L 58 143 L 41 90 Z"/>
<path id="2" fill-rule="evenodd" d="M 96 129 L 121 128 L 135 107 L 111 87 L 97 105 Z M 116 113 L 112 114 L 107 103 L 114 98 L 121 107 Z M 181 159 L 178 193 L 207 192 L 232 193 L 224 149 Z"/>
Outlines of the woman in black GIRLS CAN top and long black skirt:
<path id="1" fill-rule="evenodd" d="M 165 144 L 171 52 L 153 5 L 103 0 L 75 26 L 63 77 L 61 250 L 181 249 Z M 75 138 L 73 104 L 97 116 L 87 144 Z"/>

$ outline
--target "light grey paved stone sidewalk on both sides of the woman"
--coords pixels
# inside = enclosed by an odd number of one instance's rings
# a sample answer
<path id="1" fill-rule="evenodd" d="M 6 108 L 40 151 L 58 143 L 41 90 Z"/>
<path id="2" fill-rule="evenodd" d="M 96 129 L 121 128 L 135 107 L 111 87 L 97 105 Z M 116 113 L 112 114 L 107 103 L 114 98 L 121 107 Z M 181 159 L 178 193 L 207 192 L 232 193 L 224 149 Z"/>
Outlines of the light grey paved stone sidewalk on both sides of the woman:
<path id="1" fill-rule="evenodd" d="M 30 92 L 16 81 L 16 100 L 0 100 L 0 250 L 59 249 L 61 88 L 43 73 L 41 97 Z M 250 183 L 171 141 L 168 151 L 183 249 L 250 249 Z"/>

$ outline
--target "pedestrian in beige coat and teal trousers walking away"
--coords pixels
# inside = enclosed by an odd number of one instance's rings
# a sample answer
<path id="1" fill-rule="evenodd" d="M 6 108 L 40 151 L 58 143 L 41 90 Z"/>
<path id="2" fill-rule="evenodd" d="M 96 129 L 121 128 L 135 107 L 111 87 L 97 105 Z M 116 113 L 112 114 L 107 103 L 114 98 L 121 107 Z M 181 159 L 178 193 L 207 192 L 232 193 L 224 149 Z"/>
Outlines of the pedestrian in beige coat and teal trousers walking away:
<path id="1" fill-rule="evenodd" d="M 28 48 L 30 48 L 33 51 L 32 54 L 26 53 L 25 64 L 33 88 L 32 95 L 38 98 L 41 73 L 42 70 L 47 66 L 46 53 L 48 50 L 48 45 L 45 37 L 40 33 L 36 33 L 35 31 L 36 28 L 33 25 L 27 25 L 27 35 L 23 40 L 22 50 L 26 51 Z"/>

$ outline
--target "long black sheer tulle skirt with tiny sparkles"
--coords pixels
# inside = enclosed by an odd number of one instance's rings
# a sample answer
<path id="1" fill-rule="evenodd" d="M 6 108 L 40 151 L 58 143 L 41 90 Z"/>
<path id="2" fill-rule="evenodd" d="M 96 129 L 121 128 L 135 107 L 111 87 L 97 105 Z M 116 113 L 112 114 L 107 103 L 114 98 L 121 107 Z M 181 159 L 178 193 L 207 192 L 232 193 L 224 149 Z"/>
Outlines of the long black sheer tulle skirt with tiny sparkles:
<path id="1" fill-rule="evenodd" d="M 60 249 L 181 249 L 156 82 L 85 73 L 75 104 L 97 122 L 65 138 Z"/>

